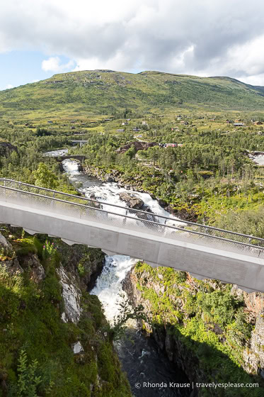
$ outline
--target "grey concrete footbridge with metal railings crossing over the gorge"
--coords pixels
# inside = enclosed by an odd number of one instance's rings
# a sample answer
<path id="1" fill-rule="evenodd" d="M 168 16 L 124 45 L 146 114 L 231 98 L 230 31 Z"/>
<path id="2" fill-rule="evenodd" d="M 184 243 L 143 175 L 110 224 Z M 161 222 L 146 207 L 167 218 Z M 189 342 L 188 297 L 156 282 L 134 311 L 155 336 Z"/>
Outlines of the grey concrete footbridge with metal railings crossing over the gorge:
<path id="1" fill-rule="evenodd" d="M 0 179 L 0 222 L 264 292 L 264 239 Z"/>

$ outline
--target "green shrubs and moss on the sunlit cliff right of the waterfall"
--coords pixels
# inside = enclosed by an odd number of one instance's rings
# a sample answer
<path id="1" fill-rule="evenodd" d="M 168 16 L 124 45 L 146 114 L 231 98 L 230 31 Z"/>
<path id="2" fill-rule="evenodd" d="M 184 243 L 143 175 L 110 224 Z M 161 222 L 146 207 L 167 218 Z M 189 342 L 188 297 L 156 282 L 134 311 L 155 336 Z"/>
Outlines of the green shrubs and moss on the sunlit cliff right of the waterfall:
<path id="1" fill-rule="evenodd" d="M 137 289 L 147 301 L 151 329 L 183 345 L 185 357 L 193 357 L 207 381 L 258 383 L 260 388 L 239 389 L 239 396 L 260 397 L 263 381 L 243 371 L 243 350 L 251 336 L 253 324 L 243 311 L 243 296 L 230 294 L 231 286 L 219 281 L 199 281 L 184 272 L 138 262 L 134 274 Z M 153 285 L 160 292 L 154 291 Z M 147 330 L 150 330 L 147 325 Z M 194 364 L 195 365 L 195 364 Z M 224 396 L 237 396 L 236 388 L 226 388 Z M 201 391 L 210 396 L 210 391 Z M 222 396 L 217 394 L 217 396 Z"/>

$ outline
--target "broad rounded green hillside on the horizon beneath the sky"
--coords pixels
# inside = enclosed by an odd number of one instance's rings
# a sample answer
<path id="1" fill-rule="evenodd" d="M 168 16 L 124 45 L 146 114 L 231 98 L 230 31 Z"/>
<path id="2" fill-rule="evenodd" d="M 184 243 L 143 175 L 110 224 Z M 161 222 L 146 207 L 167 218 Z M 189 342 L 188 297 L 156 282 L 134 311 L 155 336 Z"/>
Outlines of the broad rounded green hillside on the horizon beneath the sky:
<path id="1" fill-rule="evenodd" d="M 0 91 L 0 116 L 4 118 L 110 115 L 124 108 L 138 112 L 177 108 L 261 111 L 264 91 L 229 77 L 110 70 L 55 74 Z"/>

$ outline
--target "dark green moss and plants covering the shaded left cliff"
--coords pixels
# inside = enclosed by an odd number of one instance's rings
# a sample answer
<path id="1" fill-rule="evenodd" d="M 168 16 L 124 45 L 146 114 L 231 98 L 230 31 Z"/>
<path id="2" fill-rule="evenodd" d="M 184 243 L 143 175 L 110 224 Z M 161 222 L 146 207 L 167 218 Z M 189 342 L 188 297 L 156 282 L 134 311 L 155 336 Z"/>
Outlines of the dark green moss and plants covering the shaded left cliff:
<path id="1" fill-rule="evenodd" d="M 107 323 L 98 298 L 83 292 L 78 325 L 62 322 L 60 255 L 44 241 L 13 236 L 13 252 L 24 271 L 11 274 L 0 267 L 0 396 L 88 397 L 92 388 L 96 397 L 130 396 L 110 337 L 103 337 Z M 27 264 L 33 254 L 45 269 L 38 282 Z M 20 259 L 25 256 L 27 261 Z M 71 350 L 77 340 L 81 355 Z"/>

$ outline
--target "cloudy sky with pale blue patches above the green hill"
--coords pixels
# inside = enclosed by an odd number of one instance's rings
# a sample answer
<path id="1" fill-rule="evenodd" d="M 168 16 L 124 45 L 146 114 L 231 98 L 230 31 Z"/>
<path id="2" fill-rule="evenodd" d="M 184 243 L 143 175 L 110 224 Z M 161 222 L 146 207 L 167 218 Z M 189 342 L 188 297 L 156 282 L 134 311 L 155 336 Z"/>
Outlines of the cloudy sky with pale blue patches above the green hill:
<path id="1" fill-rule="evenodd" d="M 263 0 L 8 0 L 0 90 L 92 69 L 264 86 L 263 16 Z"/>

